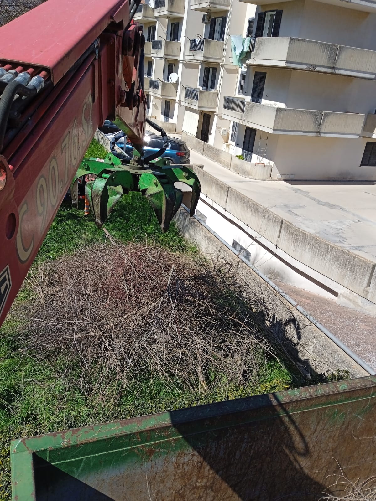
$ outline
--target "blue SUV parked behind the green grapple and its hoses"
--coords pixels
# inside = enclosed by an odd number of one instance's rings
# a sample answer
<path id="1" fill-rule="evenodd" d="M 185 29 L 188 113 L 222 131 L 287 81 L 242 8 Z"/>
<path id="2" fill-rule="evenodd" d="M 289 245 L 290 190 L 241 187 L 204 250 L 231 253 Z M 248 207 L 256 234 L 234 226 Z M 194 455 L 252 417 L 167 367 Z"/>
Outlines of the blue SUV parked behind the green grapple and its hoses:
<path id="1" fill-rule="evenodd" d="M 119 146 L 122 150 L 124 150 L 124 139 L 125 138 L 121 138 L 121 140 L 116 143 L 116 146 Z M 175 137 L 167 137 L 167 139 L 167 149 L 162 155 L 160 155 L 160 157 L 166 158 L 171 163 L 189 164 L 190 150 L 185 142 L 181 139 L 176 139 Z M 144 140 L 145 145 L 143 147 L 143 151 L 145 156 L 155 153 L 163 146 L 163 139 L 158 134 L 148 134 L 145 136 Z M 130 156 L 133 155 L 133 146 L 128 142 L 125 146 L 125 152 Z"/>

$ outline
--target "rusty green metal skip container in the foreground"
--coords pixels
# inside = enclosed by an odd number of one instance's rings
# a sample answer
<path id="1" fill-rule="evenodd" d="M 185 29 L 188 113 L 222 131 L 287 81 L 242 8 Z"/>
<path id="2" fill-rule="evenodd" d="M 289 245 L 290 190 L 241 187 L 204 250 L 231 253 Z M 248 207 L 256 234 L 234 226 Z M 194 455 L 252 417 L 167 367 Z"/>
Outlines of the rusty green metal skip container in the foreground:
<path id="1" fill-rule="evenodd" d="M 13 440 L 13 499 L 320 499 L 375 473 L 375 397 L 367 376 Z"/>

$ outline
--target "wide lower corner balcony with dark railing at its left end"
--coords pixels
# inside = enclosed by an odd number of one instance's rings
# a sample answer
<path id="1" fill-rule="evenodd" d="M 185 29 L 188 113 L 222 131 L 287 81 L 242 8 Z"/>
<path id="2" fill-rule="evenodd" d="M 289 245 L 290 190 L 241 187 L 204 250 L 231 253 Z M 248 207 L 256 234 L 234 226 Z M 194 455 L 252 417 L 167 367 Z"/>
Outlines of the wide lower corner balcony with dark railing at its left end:
<path id="1" fill-rule="evenodd" d="M 333 111 L 296 110 L 252 103 L 226 96 L 222 118 L 272 134 L 357 138 L 364 115 Z"/>

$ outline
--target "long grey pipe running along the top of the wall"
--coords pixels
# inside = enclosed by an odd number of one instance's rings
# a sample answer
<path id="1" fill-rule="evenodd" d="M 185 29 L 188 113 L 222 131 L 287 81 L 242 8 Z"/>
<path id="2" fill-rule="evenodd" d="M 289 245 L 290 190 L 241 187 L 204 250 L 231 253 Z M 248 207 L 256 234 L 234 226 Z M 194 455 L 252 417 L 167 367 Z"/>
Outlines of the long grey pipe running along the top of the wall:
<path id="1" fill-rule="evenodd" d="M 187 212 L 189 209 L 185 207 L 185 205 L 181 205 Z M 274 282 L 272 282 L 266 275 L 261 273 L 257 268 L 255 268 L 251 263 L 249 263 L 243 256 L 241 256 L 229 243 L 227 243 L 218 233 L 213 231 L 207 224 L 199 219 L 196 215 L 194 218 L 200 222 L 213 236 L 215 236 L 221 243 L 223 243 L 232 253 L 234 253 L 239 259 L 243 261 L 247 266 L 249 266 L 262 280 L 264 280 L 270 287 L 272 287 L 278 294 L 280 294 L 290 305 L 292 305 L 299 313 L 301 313 L 306 319 L 308 319 L 317 329 L 319 329 L 325 336 L 327 336 L 334 344 L 336 344 L 341 350 L 343 350 L 346 355 L 348 355 L 354 362 L 356 362 L 362 369 L 364 369 L 370 376 L 376 375 L 376 371 L 369 367 L 368 364 L 364 362 L 361 358 L 359 358 L 352 350 L 350 350 L 345 344 L 339 341 L 338 338 L 334 336 L 326 327 L 321 325 L 315 318 L 313 318 L 308 312 L 304 310 L 296 301 L 294 301 L 288 294 L 282 291 Z"/>

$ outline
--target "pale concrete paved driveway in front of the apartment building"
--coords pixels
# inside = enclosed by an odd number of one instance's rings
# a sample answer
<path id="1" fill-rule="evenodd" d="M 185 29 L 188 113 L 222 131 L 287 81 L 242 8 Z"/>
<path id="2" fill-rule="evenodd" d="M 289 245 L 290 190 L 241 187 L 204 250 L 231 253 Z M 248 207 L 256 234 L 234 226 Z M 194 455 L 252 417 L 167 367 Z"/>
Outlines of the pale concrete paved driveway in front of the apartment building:
<path id="1" fill-rule="evenodd" d="M 191 164 L 325 240 L 376 262 L 376 183 L 255 181 L 191 150 Z"/>

